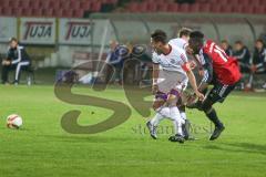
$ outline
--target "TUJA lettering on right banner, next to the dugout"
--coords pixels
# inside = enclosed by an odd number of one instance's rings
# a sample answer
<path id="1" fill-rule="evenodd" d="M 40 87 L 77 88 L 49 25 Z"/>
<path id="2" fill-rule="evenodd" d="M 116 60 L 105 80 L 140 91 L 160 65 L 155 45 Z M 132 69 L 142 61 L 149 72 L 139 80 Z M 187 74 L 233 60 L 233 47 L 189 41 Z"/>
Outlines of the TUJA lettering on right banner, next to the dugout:
<path id="1" fill-rule="evenodd" d="M 68 22 L 69 27 L 65 40 L 89 38 L 92 33 L 91 22 Z"/>

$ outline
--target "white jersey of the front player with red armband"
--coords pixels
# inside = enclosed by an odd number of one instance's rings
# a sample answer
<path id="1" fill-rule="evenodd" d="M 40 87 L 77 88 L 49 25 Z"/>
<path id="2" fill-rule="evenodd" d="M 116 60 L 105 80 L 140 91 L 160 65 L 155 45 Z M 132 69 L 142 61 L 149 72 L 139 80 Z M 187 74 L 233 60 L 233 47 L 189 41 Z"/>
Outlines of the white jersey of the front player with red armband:
<path id="1" fill-rule="evenodd" d="M 174 74 L 177 73 L 177 82 L 187 83 L 188 79 L 185 70 L 187 69 L 188 63 L 185 51 L 173 45 L 171 46 L 172 50 L 167 55 L 158 55 L 154 52 L 152 58 L 153 63 L 160 64 L 165 71 L 174 72 Z"/>

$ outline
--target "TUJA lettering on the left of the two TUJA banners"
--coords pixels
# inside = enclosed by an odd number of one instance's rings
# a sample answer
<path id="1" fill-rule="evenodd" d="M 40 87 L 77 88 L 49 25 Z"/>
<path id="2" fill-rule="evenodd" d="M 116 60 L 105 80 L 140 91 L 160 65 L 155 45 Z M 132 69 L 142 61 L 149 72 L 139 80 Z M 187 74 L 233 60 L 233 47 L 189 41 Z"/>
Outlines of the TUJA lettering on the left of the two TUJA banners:
<path id="1" fill-rule="evenodd" d="M 51 38 L 53 22 L 25 22 L 25 33 L 23 40 Z"/>

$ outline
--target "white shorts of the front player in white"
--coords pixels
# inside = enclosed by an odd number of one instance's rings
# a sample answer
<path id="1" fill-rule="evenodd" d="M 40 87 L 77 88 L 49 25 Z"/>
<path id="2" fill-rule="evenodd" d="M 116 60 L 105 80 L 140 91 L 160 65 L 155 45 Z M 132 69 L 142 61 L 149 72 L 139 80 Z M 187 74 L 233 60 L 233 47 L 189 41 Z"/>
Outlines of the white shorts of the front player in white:
<path id="1" fill-rule="evenodd" d="M 160 70 L 157 80 L 158 91 L 170 93 L 171 90 L 176 90 L 182 93 L 187 86 L 187 77 L 182 79 L 178 72 Z"/>

